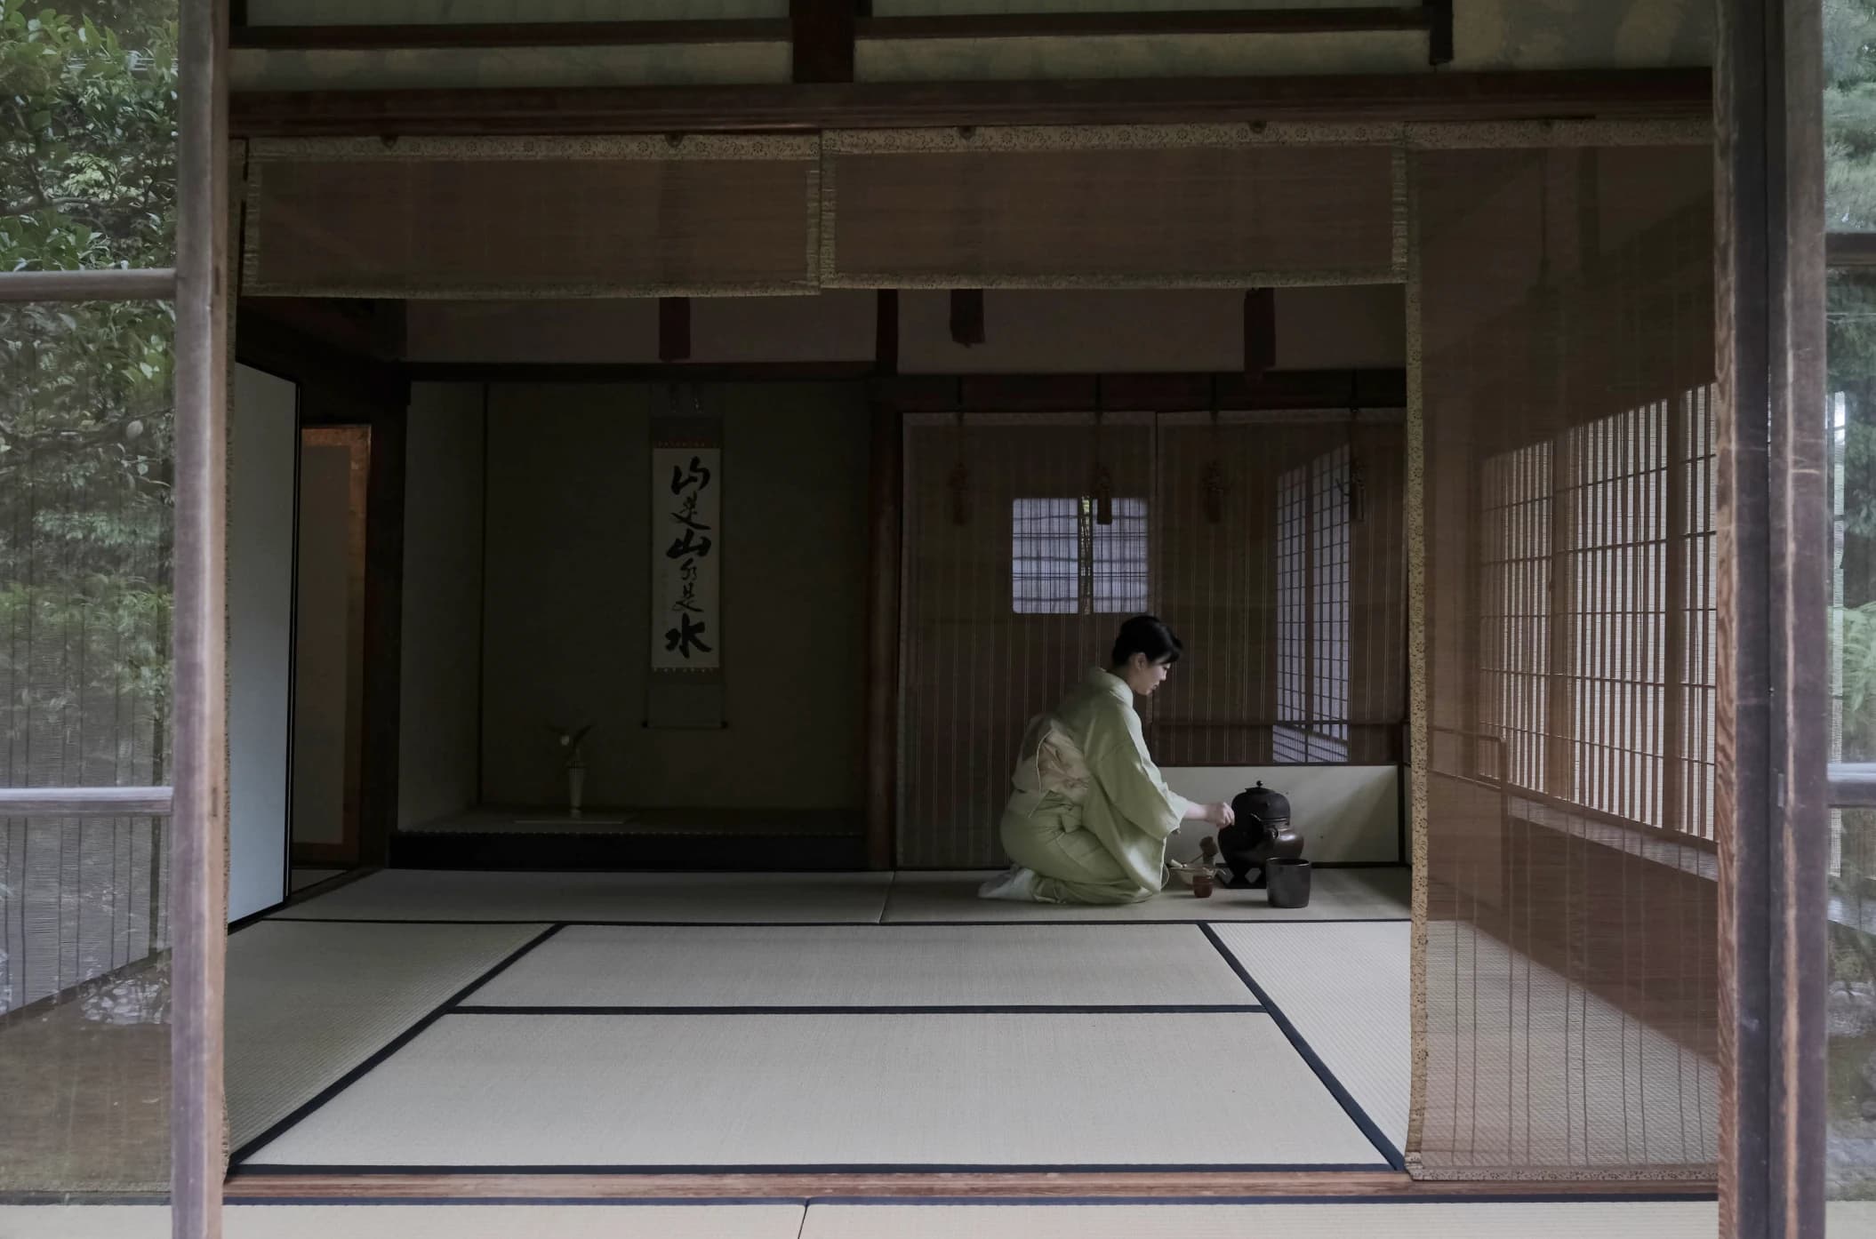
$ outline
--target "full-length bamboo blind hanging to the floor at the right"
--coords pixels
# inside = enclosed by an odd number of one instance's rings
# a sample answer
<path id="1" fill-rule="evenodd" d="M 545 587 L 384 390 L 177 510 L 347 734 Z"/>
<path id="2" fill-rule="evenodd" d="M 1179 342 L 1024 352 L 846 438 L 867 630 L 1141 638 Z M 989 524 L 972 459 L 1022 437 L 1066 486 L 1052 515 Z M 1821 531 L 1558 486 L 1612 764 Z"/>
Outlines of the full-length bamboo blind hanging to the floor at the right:
<path id="1" fill-rule="evenodd" d="M 1717 1158 L 1709 163 L 1415 156 L 1428 1177 Z"/>

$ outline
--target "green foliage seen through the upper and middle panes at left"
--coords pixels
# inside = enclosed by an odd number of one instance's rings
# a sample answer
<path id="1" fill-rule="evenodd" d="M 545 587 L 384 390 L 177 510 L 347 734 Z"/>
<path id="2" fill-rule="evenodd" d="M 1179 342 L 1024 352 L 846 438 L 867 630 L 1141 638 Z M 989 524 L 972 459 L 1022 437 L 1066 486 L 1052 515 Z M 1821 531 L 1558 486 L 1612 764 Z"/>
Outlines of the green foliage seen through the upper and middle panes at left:
<path id="1" fill-rule="evenodd" d="M 174 262 L 174 0 L 0 0 L 0 270 Z M 173 319 L 0 306 L 0 784 L 161 782 Z"/>

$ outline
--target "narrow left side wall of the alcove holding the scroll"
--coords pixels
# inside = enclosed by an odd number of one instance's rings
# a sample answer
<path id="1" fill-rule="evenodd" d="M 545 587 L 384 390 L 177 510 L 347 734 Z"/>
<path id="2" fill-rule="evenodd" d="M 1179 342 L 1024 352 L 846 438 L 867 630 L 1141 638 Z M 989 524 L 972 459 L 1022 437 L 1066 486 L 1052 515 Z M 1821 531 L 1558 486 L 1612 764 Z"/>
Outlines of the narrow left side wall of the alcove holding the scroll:
<path id="1" fill-rule="evenodd" d="M 482 692 L 482 386 L 411 388 L 403 465 L 398 825 L 477 802 Z"/>

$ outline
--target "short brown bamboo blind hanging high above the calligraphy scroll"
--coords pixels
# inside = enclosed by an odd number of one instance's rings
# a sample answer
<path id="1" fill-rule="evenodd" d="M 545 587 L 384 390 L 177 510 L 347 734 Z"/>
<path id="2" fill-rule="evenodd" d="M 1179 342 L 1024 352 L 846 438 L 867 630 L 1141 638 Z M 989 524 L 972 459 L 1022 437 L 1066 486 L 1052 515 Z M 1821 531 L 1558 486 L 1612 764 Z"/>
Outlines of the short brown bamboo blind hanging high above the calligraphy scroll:
<path id="1" fill-rule="evenodd" d="M 812 292 L 805 137 L 253 142 L 242 287 L 291 296 Z"/>

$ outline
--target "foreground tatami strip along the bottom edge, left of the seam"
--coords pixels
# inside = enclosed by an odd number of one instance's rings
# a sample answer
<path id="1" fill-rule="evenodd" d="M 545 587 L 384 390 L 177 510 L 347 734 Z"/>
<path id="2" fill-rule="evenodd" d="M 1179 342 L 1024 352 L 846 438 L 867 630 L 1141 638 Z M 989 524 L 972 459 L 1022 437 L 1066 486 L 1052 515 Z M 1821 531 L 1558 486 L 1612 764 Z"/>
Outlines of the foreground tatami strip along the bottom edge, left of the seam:
<path id="1" fill-rule="evenodd" d="M 795 1239 L 801 1205 L 231 1205 L 227 1239 Z M 0 1207 L 0 1239 L 169 1239 L 156 1205 Z"/>

